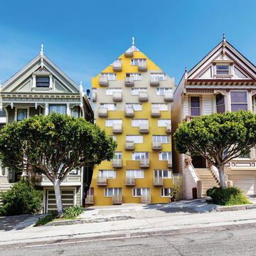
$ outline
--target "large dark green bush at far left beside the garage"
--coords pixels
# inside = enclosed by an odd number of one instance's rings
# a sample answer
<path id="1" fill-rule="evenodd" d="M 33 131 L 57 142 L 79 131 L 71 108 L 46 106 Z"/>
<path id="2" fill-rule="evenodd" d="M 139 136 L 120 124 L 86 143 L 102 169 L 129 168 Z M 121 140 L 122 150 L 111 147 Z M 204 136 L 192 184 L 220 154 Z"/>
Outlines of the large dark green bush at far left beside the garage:
<path id="1" fill-rule="evenodd" d="M 1 192 L 1 201 L 0 215 L 38 213 L 42 207 L 43 191 L 33 188 L 28 178 L 22 178 L 8 191 Z"/>

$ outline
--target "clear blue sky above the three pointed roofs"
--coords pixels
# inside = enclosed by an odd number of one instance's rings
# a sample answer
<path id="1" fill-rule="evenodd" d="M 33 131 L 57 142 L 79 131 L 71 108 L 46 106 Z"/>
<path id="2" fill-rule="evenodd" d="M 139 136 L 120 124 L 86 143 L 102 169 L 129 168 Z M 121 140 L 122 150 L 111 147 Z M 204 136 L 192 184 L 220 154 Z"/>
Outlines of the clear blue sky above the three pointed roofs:
<path id="1" fill-rule="evenodd" d="M 90 88 L 97 75 L 135 45 L 176 84 L 221 40 L 256 65 L 256 1 L 1 1 L 0 80 L 41 50 Z"/>

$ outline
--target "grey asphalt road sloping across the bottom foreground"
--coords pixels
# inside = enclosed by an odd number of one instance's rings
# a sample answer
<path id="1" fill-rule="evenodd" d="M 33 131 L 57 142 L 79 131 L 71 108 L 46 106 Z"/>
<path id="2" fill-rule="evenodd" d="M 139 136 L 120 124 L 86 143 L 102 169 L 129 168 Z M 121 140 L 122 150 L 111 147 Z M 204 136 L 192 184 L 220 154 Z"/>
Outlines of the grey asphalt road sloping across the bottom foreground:
<path id="1" fill-rule="evenodd" d="M 200 230 L 179 235 L 93 241 L 58 241 L 55 245 L 14 245 L 0 248 L 0 255 L 256 255 L 256 228 L 234 226 L 225 230 Z"/>

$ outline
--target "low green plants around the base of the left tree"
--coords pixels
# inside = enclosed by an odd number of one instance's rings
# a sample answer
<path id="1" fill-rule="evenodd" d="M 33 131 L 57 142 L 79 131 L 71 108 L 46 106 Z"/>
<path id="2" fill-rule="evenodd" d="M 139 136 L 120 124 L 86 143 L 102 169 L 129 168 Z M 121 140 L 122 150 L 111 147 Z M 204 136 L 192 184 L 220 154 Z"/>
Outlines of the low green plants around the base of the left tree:
<path id="1" fill-rule="evenodd" d="M 74 220 L 78 217 L 78 215 L 80 215 L 80 213 L 82 213 L 82 206 L 70 206 L 64 209 L 63 215 L 58 215 L 58 213 L 51 213 L 45 217 L 38 218 L 34 227 L 46 225 L 47 223 L 55 220 Z"/>

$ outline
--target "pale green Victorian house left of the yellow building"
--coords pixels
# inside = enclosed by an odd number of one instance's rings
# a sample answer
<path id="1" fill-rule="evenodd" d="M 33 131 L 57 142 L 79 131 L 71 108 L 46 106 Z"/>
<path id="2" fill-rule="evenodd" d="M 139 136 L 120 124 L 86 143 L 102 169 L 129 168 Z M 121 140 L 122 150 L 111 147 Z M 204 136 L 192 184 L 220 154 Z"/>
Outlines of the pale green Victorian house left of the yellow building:
<path id="1" fill-rule="evenodd" d="M 73 82 L 50 59 L 41 54 L 28 65 L 1 85 L 0 110 L 6 112 L 6 123 L 33 117 L 36 114 L 47 115 L 51 112 L 84 117 L 93 121 L 90 101 L 85 92 Z M 87 170 L 73 170 L 60 185 L 63 206 L 82 205 L 83 184 Z M 85 173 L 85 175 L 84 175 Z M 11 169 L 1 169 L 0 189 L 4 191 L 22 175 Z M 43 189 L 44 212 L 55 210 L 55 195 L 52 183 L 44 175 L 37 182 Z"/>

